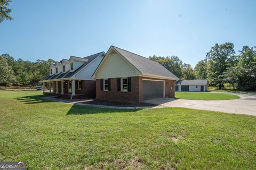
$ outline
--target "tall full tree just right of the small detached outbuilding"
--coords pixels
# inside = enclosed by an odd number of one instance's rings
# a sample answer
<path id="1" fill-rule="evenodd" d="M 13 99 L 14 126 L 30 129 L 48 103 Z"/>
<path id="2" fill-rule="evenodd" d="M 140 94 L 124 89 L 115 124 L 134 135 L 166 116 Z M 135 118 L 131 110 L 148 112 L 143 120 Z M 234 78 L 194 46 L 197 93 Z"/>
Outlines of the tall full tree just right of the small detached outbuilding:
<path id="1" fill-rule="evenodd" d="M 215 44 L 210 52 L 206 54 L 207 78 L 211 84 L 219 84 L 219 89 L 223 86 L 223 73 L 227 71 L 230 56 L 234 54 L 233 43 Z"/>

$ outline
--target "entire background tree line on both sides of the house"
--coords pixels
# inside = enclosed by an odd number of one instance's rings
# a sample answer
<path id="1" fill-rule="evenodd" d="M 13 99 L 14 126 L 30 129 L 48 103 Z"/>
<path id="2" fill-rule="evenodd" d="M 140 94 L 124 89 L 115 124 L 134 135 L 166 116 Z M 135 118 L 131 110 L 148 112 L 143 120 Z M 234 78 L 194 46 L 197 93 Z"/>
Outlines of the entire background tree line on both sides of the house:
<path id="1" fill-rule="evenodd" d="M 234 44 L 215 44 L 193 68 L 183 63 L 178 56 L 149 56 L 162 64 L 181 80 L 207 79 L 210 85 L 219 89 L 228 83 L 235 89 L 256 89 L 256 47 L 244 46 L 235 55 Z M 9 54 L 0 55 L 0 85 L 36 86 L 49 74 L 49 65 L 54 60 L 36 62 L 15 60 Z"/>

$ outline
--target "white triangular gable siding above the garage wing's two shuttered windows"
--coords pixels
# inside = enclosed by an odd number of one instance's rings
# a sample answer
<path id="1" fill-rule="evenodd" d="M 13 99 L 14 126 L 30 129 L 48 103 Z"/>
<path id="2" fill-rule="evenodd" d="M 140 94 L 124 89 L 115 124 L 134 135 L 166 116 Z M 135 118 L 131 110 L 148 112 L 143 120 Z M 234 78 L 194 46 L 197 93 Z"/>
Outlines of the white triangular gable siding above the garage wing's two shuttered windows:
<path id="1" fill-rule="evenodd" d="M 101 63 L 99 70 L 95 74 L 95 79 L 134 77 L 140 74 L 141 73 L 122 56 L 113 54 L 107 56 L 105 61 Z"/>

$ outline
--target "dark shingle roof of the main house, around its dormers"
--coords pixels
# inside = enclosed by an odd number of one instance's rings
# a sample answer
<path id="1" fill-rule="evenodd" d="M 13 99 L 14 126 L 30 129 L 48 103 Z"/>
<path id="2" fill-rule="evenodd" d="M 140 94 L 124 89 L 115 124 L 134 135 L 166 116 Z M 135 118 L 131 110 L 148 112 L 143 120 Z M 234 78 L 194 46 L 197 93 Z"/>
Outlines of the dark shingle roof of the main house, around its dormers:
<path id="1" fill-rule="evenodd" d="M 105 52 L 100 52 L 100 53 L 96 53 L 87 57 L 83 57 L 83 59 L 86 59 L 86 62 L 81 65 L 80 67 L 78 67 L 78 69 L 76 69 L 73 72 L 67 71 L 66 73 L 60 73 L 60 74 L 53 74 L 53 75 L 47 75 L 46 77 L 44 77 L 41 81 L 45 81 L 45 80 L 53 80 L 53 79 L 64 79 L 64 78 L 71 78 L 73 77 L 78 71 L 82 70 L 86 65 L 88 65 L 89 63 L 91 63 L 95 58 L 97 58 L 100 55 L 105 55 Z M 74 57 L 74 56 L 72 56 Z M 81 58 L 81 57 L 77 57 L 77 58 Z M 65 59 L 66 60 L 66 59 Z"/>

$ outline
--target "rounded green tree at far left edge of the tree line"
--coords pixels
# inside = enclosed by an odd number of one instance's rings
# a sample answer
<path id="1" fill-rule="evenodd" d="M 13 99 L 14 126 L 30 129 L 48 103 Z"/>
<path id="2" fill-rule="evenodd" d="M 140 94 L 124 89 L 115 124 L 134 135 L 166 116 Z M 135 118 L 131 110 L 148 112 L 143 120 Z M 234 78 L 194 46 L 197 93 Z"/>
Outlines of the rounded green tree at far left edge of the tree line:
<path id="1" fill-rule="evenodd" d="M 15 82 L 15 76 L 12 67 L 4 57 L 0 56 L 0 84 L 10 86 L 13 82 Z"/>

